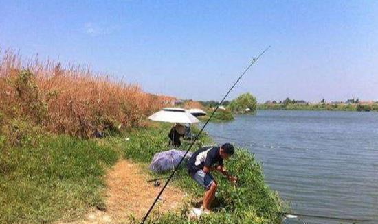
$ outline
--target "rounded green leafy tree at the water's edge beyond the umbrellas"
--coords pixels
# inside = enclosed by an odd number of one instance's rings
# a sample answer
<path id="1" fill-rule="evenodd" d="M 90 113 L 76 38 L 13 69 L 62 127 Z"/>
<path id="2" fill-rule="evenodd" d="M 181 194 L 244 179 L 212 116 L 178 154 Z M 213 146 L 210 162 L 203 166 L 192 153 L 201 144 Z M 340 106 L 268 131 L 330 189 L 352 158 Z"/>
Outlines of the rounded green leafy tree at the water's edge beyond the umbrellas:
<path id="1" fill-rule="evenodd" d="M 256 113 L 257 108 L 257 101 L 256 97 L 254 97 L 251 93 L 247 92 L 236 99 L 231 101 L 230 105 L 228 106 L 232 112 L 236 113 L 245 113 L 245 109 L 249 108 L 248 113 Z"/>

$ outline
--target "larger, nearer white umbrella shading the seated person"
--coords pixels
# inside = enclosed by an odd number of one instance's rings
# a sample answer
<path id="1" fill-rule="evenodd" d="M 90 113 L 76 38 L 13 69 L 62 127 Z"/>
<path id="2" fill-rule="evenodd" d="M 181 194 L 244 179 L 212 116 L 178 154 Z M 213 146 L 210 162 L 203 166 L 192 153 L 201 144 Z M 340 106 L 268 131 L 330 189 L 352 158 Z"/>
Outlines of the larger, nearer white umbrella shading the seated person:
<path id="1" fill-rule="evenodd" d="M 163 121 L 169 123 L 197 123 L 197 119 L 192 114 L 189 114 L 181 108 L 163 108 L 159 112 L 148 116 L 148 119 L 153 121 Z"/>

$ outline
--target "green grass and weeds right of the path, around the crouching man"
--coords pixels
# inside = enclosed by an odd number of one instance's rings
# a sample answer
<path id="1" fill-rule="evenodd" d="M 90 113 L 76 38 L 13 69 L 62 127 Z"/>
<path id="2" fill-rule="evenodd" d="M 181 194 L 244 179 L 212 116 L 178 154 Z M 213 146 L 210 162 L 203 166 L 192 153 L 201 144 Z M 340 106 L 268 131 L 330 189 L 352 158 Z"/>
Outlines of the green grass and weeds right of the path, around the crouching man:
<path id="1" fill-rule="evenodd" d="M 157 125 L 154 129 L 140 129 L 132 133 L 130 142 L 124 144 L 126 158 L 147 165 L 154 153 L 167 149 L 168 128 Z M 203 135 L 192 150 L 212 143 L 208 136 Z M 182 148 L 186 149 L 188 144 L 184 142 Z M 213 204 L 214 212 L 192 223 L 280 223 L 282 217 L 279 212 L 284 209 L 283 203 L 278 194 L 265 184 L 263 169 L 254 159 L 254 155 L 238 148 L 236 155 L 227 160 L 225 165 L 230 173 L 238 177 L 238 186 L 232 186 L 227 179 L 215 172 L 219 191 Z M 165 175 L 167 173 L 156 176 Z M 203 189 L 188 176 L 185 166 L 179 169 L 172 184 L 188 192 L 192 198 L 203 197 Z M 181 208 L 179 214 L 153 214 L 148 223 L 188 223 L 190 209 L 190 205 L 187 205 Z"/>

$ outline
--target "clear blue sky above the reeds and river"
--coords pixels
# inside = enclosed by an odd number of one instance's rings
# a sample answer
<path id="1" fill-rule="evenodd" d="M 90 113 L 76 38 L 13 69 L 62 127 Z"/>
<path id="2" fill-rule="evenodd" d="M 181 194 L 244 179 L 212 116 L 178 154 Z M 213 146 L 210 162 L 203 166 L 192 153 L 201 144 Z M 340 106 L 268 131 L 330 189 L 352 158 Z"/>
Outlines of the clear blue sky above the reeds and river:
<path id="1" fill-rule="evenodd" d="M 0 47 L 89 64 L 147 92 L 378 100 L 378 1 L 4 1 Z"/>

